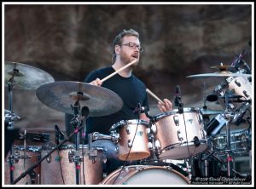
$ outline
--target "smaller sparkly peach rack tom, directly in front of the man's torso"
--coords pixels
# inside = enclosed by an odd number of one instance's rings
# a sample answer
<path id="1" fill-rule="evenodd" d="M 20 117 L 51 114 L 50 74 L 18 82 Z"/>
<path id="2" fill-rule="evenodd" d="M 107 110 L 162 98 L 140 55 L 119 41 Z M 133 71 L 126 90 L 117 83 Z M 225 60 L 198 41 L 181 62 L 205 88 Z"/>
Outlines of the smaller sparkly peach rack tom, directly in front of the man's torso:
<path id="1" fill-rule="evenodd" d="M 148 158 L 148 123 L 143 120 L 122 120 L 111 130 L 119 134 L 118 153 L 120 160 L 139 160 Z M 127 157 L 129 154 L 129 157 Z"/>

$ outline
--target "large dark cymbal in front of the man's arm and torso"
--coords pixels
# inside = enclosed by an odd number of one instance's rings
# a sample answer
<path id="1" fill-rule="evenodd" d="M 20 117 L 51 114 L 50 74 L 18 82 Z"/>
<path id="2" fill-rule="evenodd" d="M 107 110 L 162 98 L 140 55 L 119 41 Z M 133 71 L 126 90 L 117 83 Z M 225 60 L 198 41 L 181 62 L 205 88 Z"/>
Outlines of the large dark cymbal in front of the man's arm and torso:
<path id="1" fill-rule="evenodd" d="M 123 100 L 112 90 L 89 83 L 60 81 L 47 83 L 37 89 L 38 99 L 56 111 L 73 114 L 76 100 L 80 109 L 87 106 L 90 117 L 99 117 L 118 112 L 123 107 Z"/>

